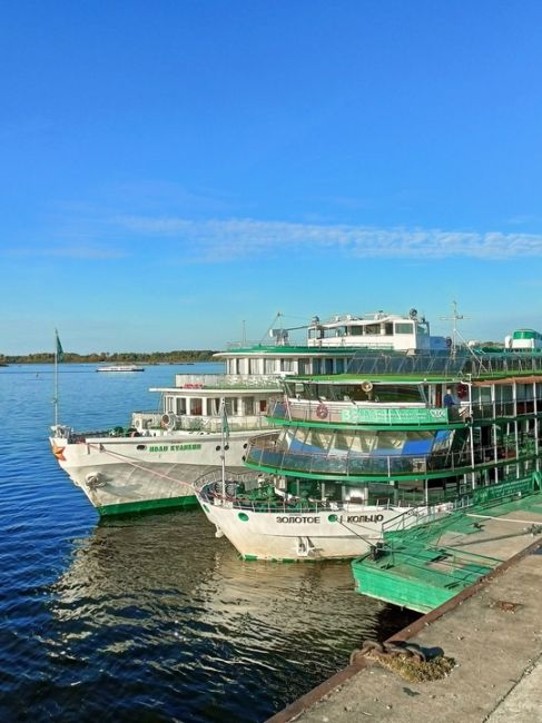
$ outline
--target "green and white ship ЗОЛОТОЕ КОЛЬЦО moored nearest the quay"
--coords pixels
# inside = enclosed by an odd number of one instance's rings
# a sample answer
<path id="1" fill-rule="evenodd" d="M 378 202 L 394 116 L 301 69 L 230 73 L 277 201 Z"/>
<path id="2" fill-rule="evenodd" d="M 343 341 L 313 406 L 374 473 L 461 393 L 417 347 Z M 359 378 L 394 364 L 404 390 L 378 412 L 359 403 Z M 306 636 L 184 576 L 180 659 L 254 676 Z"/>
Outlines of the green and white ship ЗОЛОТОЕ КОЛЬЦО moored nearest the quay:
<path id="1" fill-rule="evenodd" d="M 249 440 L 252 478 L 200 481 L 217 534 L 244 558 L 356 557 L 394 521 L 540 472 L 542 353 L 513 338 L 493 353 L 364 350 L 345 374 L 287 377 L 277 428 Z"/>

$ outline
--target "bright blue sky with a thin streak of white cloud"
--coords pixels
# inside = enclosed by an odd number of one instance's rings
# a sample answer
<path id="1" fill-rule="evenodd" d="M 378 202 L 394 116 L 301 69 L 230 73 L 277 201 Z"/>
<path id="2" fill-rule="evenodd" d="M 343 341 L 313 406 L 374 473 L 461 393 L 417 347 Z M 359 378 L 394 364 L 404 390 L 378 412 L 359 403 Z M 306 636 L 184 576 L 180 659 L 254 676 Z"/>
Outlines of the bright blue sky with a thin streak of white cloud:
<path id="1" fill-rule="evenodd" d="M 542 3 L 0 3 L 0 353 L 542 330 Z"/>

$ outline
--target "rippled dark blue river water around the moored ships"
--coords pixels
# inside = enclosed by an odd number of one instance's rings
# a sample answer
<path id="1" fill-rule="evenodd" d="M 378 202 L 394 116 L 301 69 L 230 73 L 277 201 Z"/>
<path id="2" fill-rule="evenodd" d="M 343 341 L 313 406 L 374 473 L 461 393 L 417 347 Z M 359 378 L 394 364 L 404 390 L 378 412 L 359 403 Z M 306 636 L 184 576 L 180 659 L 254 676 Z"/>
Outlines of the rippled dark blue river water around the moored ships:
<path id="1" fill-rule="evenodd" d="M 61 365 L 59 420 L 154 409 L 156 366 Z M 348 564 L 244 563 L 197 512 L 99 522 L 48 446 L 51 366 L 0 368 L 0 720 L 264 721 L 411 618 Z"/>

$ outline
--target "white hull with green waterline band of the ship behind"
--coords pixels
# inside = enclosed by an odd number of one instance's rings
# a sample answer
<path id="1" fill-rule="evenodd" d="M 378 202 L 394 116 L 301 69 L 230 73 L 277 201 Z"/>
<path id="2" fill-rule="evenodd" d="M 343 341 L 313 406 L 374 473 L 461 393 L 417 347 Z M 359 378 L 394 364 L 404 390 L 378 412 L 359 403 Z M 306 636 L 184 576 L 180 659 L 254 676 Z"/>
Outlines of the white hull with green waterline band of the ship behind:
<path id="1" fill-rule="evenodd" d="M 249 434 L 230 433 L 226 465 L 244 471 Z M 62 469 L 100 514 L 197 504 L 194 482 L 221 466 L 219 434 L 169 433 L 156 437 L 50 438 Z"/>

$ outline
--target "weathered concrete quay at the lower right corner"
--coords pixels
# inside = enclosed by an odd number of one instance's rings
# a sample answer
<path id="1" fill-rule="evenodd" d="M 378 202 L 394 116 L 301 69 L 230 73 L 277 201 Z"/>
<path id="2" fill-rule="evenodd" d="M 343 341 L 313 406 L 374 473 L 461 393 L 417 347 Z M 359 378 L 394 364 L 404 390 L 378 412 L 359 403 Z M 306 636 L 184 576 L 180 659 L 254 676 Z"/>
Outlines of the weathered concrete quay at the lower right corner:
<path id="1" fill-rule="evenodd" d="M 521 546 L 490 575 L 391 638 L 454 658 L 449 676 L 412 683 L 363 657 L 267 723 L 542 721 L 540 531 L 523 536 Z"/>

